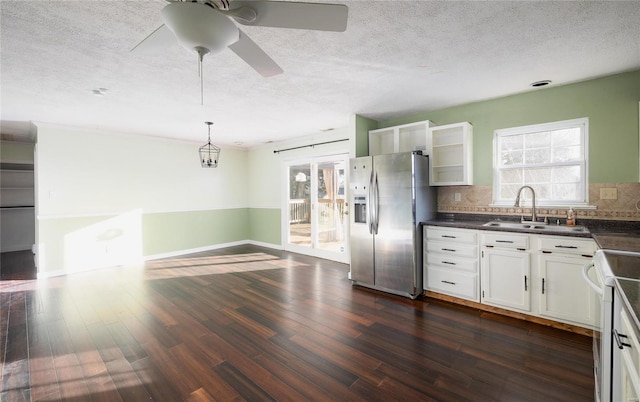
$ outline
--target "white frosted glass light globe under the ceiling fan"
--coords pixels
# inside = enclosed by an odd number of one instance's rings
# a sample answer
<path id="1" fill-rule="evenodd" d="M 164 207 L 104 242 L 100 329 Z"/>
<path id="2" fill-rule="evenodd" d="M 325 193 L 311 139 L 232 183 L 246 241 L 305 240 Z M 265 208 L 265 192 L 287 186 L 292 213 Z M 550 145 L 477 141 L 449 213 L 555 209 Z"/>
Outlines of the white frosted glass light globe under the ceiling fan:
<path id="1" fill-rule="evenodd" d="M 233 21 L 200 3 L 171 3 L 162 9 L 162 21 L 189 50 L 218 53 L 240 38 Z"/>

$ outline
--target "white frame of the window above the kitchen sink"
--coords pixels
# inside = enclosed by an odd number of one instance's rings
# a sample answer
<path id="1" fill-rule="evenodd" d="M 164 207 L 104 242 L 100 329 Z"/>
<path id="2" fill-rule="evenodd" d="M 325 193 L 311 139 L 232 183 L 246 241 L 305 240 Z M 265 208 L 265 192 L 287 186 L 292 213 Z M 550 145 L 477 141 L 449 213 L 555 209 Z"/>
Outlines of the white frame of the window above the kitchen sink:
<path id="1" fill-rule="evenodd" d="M 547 164 L 538 164 L 538 165 L 519 165 L 519 168 L 526 169 L 527 167 L 541 167 L 541 166 L 579 166 L 580 167 L 580 175 L 581 175 L 581 183 L 580 183 L 580 199 L 576 200 L 547 200 L 539 198 L 539 195 L 536 194 L 536 206 L 544 206 L 544 207 L 589 207 L 589 119 L 587 117 L 579 118 L 579 119 L 571 119 L 571 120 L 562 120 L 555 121 L 549 123 L 542 124 L 533 124 L 529 126 L 520 126 L 520 127 L 512 127 L 505 128 L 500 130 L 495 130 L 493 134 L 493 204 L 494 206 L 504 207 L 514 206 L 514 199 L 500 199 L 500 172 L 504 168 L 501 166 L 500 162 L 500 149 L 498 139 L 501 137 L 506 137 L 510 135 L 522 135 L 522 134 L 532 134 L 538 132 L 545 131 L 554 131 L 554 130 L 562 130 L 567 128 L 576 128 L 579 127 L 581 130 L 581 141 L 582 141 L 582 160 L 579 162 L 554 162 Z M 517 167 L 517 168 L 518 168 Z M 523 183 L 523 185 L 527 185 L 528 183 Z M 525 194 L 523 193 L 523 196 Z M 526 198 L 530 199 L 530 194 L 526 191 Z M 524 205 L 523 205 L 524 206 Z"/>

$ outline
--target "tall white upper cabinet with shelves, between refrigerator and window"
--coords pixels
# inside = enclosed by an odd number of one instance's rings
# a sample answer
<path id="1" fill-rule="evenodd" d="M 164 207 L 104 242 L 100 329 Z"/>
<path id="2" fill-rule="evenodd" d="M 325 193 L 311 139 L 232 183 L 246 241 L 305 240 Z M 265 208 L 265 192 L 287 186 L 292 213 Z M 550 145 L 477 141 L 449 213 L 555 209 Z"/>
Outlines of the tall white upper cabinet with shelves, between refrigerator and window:
<path id="1" fill-rule="evenodd" d="M 429 128 L 430 184 L 473 184 L 473 127 L 467 122 Z"/>

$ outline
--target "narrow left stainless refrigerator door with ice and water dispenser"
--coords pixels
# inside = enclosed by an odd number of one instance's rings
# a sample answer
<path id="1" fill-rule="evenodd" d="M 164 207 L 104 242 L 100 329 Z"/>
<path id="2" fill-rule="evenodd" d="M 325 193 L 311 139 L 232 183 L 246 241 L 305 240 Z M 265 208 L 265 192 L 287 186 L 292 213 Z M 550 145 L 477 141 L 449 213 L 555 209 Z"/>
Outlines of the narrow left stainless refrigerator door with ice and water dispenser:
<path id="1" fill-rule="evenodd" d="M 349 161 L 351 280 L 371 286 L 375 281 L 370 216 L 372 168 L 370 156 Z"/>

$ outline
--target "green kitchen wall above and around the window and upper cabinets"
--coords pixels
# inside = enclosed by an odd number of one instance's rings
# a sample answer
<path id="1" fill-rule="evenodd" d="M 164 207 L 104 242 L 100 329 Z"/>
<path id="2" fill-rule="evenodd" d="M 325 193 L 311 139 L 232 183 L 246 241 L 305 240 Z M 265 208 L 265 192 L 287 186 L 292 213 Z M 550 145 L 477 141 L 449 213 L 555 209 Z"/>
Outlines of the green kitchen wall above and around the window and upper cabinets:
<path id="1" fill-rule="evenodd" d="M 491 185 L 494 130 L 588 117 L 589 182 L 627 183 L 638 181 L 639 101 L 640 70 L 385 120 L 379 126 L 420 120 L 436 125 L 470 122 L 474 184 Z M 364 136 L 359 128 L 357 135 Z"/>

